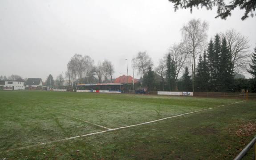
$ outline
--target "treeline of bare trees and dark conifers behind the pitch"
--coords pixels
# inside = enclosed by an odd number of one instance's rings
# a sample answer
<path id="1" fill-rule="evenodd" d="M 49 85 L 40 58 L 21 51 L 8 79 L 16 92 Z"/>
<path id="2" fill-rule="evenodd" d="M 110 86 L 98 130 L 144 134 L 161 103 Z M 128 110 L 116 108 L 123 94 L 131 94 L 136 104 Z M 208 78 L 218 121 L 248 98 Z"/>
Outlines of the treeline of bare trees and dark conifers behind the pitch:
<path id="1" fill-rule="evenodd" d="M 256 92 L 256 47 L 254 53 L 249 51 L 248 38 L 233 29 L 218 33 L 207 42 L 207 31 L 208 23 L 200 19 L 184 24 L 182 40 L 171 45 L 157 66 L 146 51 L 138 52 L 132 59 L 132 67 L 141 77 L 135 89 Z M 245 79 L 242 73 L 249 73 L 252 78 Z M 55 80 L 50 74 L 45 85 L 114 82 L 113 75 L 114 66 L 109 60 L 95 65 L 90 56 L 75 54 L 67 64 L 67 71 Z"/>

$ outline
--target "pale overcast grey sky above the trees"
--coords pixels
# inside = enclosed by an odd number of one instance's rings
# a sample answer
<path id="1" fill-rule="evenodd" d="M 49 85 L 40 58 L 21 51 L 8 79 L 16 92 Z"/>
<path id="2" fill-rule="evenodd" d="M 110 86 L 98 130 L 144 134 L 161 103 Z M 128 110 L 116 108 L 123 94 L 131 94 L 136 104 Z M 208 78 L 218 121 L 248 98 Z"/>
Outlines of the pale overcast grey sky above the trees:
<path id="1" fill-rule="evenodd" d="M 74 54 L 89 55 L 97 64 L 113 62 L 115 77 L 132 74 L 131 59 L 147 51 L 158 63 L 180 28 L 192 18 L 206 20 L 209 39 L 236 29 L 256 46 L 256 18 L 240 20 L 236 9 L 228 20 L 215 19 L 216 8 L 178 10 L 168 0 L 0 0 L 0 75 L 54 78 L 66 70 Z M 138 78 L 138 76 L 135 76 Z"/>

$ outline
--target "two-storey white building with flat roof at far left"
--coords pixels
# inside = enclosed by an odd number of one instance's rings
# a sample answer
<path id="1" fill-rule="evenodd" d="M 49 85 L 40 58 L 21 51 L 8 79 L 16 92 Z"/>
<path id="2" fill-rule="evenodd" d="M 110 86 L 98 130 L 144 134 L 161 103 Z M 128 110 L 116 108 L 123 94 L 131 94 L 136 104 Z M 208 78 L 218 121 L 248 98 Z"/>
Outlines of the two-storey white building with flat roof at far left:
<path id="1" fill-rule="evenodd" d="M 23 81 L 11 81 L 4 80 L 0 81 L 0 89 L 1 90 L 25 90 Z"/>

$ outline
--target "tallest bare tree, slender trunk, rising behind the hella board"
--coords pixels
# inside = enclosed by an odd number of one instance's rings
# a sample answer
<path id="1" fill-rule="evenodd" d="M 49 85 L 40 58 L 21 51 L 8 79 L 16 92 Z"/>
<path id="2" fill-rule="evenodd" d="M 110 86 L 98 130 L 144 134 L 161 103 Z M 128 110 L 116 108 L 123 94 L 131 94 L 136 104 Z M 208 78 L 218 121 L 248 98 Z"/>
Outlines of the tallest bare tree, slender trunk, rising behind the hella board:
<path id="1" fill-rule="evenodd" d="M 197 56 L 203 52 L 206 47 L 207 41 L 207 30 L 208 24 L 205 21 L 200 19 L 190 20 L 186 25 L 181 29 L 183 40 L 186 44 L 187 50 L 191 52 L 191 57 L 193 59 L 192 66 L 192 87 L 194 92 L 194 78 L 195 78 L 195 62 Z"/>

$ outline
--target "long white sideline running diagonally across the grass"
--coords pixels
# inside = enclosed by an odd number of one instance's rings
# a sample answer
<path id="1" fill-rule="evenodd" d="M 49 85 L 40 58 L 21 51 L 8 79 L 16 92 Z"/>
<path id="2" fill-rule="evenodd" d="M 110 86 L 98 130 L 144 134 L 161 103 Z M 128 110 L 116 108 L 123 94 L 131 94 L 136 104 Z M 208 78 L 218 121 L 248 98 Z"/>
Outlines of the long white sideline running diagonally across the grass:
<path id="1" fill-rule="evenodd" d="M 244 101 L 245 101 L 245 100 L 244 100 Z M 243 102 L 243 101 L 238 101 L 238 102 L 235 102 L 235 103 L 230 103 L 230 104 L 228 104 L 228 105 L 232 105 L 232 104 L 236 104 L 236 103 L 240 103 L 240 102 Z M 8 149 L 8 150 L 2 151 L 2 152 L 9 152 L 9 151 L 14 151 L 14 150 L 20 150 L 20 149 L 25 149 L 25 148 L 31 148 L 31 147 L 36 147 L 36 146 L 44 145 L 44 144 L 51 144 L 51 143 L 54 143 L 54 142 L 60 142 L 60 141 L 64 141 L 64 140 L 71 140 L 71 139 L 75 139 L 75 138 L 79 138 L 79 137 L 87 137 L 87 136 L 91 136 L 91 135 L 95 135 L 95 134 L 100 134 L 100 133 L 105 133 L 105 132 L 109 132 L 109 131 L 118 130 L 118 129 L 125 129 L 125 128 L 130 128 L 130 127 L 134 127 L 134 126 L 138 126 L 138 125 L 145 125 L 145 124 L 153 123 L 153 122 L 156 122 L 156 121 L 163 121 L 163 120 L 166 120 L 166 119 L 170 119 L 170 118 L 174 118 L 174 117 L 179 117 L 179 116 L 183 116 L 183 115 L 187 115 L 187 114 L 191 114 L 191 113 L 196 113 L 196 112 L 202 112 L 202 111 L 205 111 L 205 110 L 214 109 L 214 108 L 218 108 L 218 107 L 222 107 L 222 106 L 225 106 L 225 105 L 219 105 L 219 106 L 217 106 L 217 107 L 202 109 L 202 110 L 198 110 L 198 111 L 194 111 L 194 112 L 189 112 L 189 113 L 183 113 L 183 114 L 179 114 L 179 115 L 171 116 L 171 117 L 165 117 L 165 118 L 161 118 L 161 119 L 154 120 L 154 121 L 148 121 L 148 122 L 144 122 L 144 123 L 139 123 L 139 124 L 136 124 L 136 125 L 128 125 L 128 126 L 124 126 L 124 127 L 118 127 L 118 128 L 114 128 L 114 129 L 108 129 L 108 130 L 105 130 L 105 131 L 94 132 L 94 133 L 84 134 L 84 135 L 80 135 L 80 136 L 64 138 L 64 139 L 60 139 L 60 140 L 53 140 L 53 141 L 49 141 L 49 142 L 45 142 L 45 143 L 34 144 L 34 145 L 28 145 L 28 146 L 20 147 L 20 148 Z M 0 152 L 0 153 L 2 153 L 2 152 Z"/>

